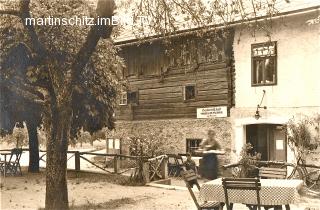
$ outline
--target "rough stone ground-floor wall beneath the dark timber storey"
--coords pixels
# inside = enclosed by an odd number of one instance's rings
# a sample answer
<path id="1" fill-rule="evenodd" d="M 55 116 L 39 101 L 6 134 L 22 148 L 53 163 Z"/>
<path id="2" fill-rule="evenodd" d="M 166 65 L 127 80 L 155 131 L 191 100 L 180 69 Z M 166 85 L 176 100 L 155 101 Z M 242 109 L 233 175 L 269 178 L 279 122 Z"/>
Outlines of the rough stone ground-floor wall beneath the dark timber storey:
<path id="1" fill-rule="evenodd" d="M 229 118 L 219 119 L 175 119 L 175 120 L 146 120 L 146 121 L 118 121 L 116 129 L 107 132 L 107 138 L 122 139 L 122 152 L 128 137 L 149 138 L 159 146 L 158 150 L 164 153 L 185 153 L 186 139 L 206 139 L 208 131 L 215 132 L 216 141 L 226 151 L 219 155 L 220 163 L 229 159 L 232 126 Z M 160 142 L 160 144 L 159 144 Z"/>

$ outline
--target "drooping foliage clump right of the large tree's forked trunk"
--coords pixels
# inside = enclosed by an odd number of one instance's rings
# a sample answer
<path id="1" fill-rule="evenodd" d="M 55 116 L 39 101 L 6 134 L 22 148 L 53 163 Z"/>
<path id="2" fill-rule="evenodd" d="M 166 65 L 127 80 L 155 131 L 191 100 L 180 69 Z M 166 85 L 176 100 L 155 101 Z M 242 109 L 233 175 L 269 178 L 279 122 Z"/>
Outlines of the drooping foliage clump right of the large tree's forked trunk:
<path id="1" fill-rule="evenodd" d="M 110 41 L 101 41 L 75 87 L 72 137 L 81 128 L 92 134 L 104 127 L 114 127 L 114 108 L 124 84 L 120 81 L 122 68 L 123 59 L 117 56 L 117 48 Z"/>

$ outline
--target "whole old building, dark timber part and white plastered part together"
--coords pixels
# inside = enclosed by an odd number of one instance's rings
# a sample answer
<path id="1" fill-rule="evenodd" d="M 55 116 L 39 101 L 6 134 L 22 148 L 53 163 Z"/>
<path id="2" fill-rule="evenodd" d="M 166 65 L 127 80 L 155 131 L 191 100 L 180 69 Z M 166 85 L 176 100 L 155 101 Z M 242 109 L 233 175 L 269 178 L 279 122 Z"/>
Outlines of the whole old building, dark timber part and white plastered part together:
<path id="1" fill-rule="evenodd" d="M 234 23 L 221 29 L 227 36 L 188 33 L 170 45 L 119 41 L 128 90 L 108 134 L 110 151 L 120 152 L 131 135 L 162 138 L 168 153 L 214 138 L 228 161 L 247 142 L 264 160 L 292 160 L 282 125 L 320 113 L 319 4 L 292 4 L 269 24 L 254 36 Z"/>

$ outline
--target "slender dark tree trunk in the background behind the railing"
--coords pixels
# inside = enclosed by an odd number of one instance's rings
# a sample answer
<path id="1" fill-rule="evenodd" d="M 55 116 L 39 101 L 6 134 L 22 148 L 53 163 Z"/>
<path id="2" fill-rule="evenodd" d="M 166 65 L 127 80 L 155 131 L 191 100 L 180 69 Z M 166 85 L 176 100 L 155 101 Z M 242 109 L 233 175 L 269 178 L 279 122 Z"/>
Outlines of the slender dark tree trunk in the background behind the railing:
<path id="1" fill-rule="evenodd" d="M 27 122 L 29 136 L 29 172 L 39 172 L 39 141 L 37 126 L 32 122 Z"/>

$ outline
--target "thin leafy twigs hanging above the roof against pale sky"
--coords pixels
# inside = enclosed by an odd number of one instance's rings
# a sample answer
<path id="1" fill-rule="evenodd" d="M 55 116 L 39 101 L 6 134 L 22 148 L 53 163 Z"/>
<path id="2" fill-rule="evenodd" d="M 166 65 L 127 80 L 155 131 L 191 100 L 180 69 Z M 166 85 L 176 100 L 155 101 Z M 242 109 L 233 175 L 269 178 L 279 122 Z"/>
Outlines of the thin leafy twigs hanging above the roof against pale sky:
<path id="1" fill-rule="evenodd" d="M 256 30 L 269 33 L 272 24 L 268 20 L 279 13 L 277 4 L 281 3 L 281 0 L 139 0 L 134 2 L 135 6 L 127 6 L 126 10 L 133 11 L 136 21 L 133 30 L 136 35 L 170 36 L 178 30 L 193 28 L 200 28 L 201 30 L 197 30 L 200 35 L 210 30 L 215 31 L 217 25 L 229 26 L 234 22 L 245 25 L 252 34 Z M 262 16 L 267 20 L 265 23 L 246 22 Z M 141 17 L 144 17 L 142 21 Z"/>

